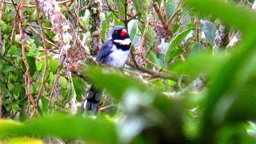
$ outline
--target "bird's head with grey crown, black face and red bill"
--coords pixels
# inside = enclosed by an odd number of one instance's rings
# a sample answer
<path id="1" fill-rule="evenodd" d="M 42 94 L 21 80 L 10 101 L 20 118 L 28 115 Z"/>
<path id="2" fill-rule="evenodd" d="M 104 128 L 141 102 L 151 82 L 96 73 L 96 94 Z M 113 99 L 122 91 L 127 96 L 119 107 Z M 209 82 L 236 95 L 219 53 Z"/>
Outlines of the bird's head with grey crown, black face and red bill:
<path id="1" fill-rule="evenodd" d="M 120 45 L 130 45 L 130 36 L 124 26 L 114 26 L 108 32 L 108 39 Z"/>

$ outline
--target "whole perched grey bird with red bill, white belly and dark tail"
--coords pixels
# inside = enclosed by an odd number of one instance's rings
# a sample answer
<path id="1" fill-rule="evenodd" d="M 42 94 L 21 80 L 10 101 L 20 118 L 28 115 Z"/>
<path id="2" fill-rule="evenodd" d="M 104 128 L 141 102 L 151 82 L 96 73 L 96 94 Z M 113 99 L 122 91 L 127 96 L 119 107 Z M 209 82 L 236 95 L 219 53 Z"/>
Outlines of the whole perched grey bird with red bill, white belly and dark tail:
<path id="1" fill-rule="evenodd" d="M 130 36 L 124 26 L 114 26 L 107 33 L 108 41 L 102 44 L 96 61 L 108 66 L 121 68 L 130 54 Z M 86 98 L 86 110 L 97 111 L 102 92 L 90 87 Z"/>

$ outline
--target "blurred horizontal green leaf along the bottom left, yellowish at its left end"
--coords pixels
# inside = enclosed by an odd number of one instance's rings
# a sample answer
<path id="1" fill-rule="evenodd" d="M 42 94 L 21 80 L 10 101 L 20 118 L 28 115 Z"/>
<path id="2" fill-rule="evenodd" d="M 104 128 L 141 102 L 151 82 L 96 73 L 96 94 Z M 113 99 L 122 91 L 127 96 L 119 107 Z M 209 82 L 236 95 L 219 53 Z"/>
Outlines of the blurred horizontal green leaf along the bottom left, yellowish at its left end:
<path id="1" fill-rule="evenodd" d="M 54 114 L 45 118 L 36 118 L 24 124 L 0 121 L 0 137 L 36 136 L 67 139 L 82 138 L 92 142 L 116 143 L 118 141 L 114 123 L 105 119 L 82 118 Z"/>

